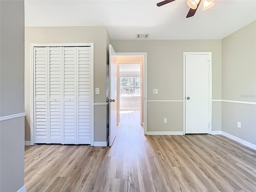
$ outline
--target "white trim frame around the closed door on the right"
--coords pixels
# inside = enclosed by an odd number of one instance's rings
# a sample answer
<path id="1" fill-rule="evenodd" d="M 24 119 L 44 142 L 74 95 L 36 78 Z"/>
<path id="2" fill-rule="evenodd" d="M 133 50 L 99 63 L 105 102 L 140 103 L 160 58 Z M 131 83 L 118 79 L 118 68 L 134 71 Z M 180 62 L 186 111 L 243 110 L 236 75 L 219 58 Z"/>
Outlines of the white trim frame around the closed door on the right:
<path id="1" fill-rule="evenodd" d="M 183 135 L 186 134 L 186 55 L 209 55 L 209 129 L 212 134 L 212 52 L 183 52 Z"/>

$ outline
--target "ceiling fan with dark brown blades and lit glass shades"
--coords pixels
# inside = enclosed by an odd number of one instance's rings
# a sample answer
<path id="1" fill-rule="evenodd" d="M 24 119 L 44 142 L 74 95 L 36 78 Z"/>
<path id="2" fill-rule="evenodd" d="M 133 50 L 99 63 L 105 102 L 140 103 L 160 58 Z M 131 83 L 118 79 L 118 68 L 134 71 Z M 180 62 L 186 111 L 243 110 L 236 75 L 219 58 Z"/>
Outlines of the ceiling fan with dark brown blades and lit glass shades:
<path id="1" fill-rule="evenodd" d="M 162 5 L 165 5 L 165 4 L 173 2 L 173 1 L 175 1 L 175 0 L 165 0 L 165 1 L 159 2 L 156 5 L 158 7 L 160 7 Z M 197 10 L 199 4 L 201 3 L 201 1 L 203 1 L 203 3 L 204 3 L 203 11 L 206 10 L 206 9 L 209 9 L 212 6 L 215 5 L 215 3 L 212 2 L 213 0 L 188 0 L 187 4 L 190 7 L 190 10 L 189 10 L 188 15 L 186 16 L 186 18 L 194 16 L 194 14 L 196 13 L 196 10 Z"/>

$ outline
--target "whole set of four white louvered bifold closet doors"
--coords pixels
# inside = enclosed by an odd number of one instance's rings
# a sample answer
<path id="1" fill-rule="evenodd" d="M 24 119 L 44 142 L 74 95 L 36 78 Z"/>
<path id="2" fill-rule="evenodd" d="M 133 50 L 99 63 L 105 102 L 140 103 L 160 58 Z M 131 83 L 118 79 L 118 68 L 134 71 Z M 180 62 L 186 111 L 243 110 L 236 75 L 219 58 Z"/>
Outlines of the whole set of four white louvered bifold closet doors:
<path id="1" fill-rule="evenodd" d="M 34 143 L 91 144 L 91 47 L 34 47 Z"/>

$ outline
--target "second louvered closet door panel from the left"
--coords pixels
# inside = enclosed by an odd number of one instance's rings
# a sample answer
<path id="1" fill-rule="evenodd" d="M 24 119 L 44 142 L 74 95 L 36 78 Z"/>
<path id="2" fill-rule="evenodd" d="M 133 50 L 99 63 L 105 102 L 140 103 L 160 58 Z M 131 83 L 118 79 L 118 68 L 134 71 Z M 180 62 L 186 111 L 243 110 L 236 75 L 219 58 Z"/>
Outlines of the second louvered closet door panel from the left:
<path id="1" fill-rule="evenodd" d="M 50 143 L 63 143 L 62 47 L 49 47 L 48 57 L 48 136 Z"/>

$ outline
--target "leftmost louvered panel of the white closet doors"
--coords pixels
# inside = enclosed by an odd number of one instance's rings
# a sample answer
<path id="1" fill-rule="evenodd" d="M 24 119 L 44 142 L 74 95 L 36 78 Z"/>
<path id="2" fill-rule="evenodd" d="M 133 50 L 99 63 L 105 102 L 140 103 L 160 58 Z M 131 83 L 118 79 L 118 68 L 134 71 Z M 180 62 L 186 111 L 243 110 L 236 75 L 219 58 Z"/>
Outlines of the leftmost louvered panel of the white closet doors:
<path id="1" fill-rule="evenodd" d="M 34 140 L 48 141 L 48 48 L 34 47 Z"/>

